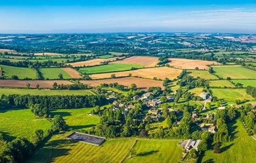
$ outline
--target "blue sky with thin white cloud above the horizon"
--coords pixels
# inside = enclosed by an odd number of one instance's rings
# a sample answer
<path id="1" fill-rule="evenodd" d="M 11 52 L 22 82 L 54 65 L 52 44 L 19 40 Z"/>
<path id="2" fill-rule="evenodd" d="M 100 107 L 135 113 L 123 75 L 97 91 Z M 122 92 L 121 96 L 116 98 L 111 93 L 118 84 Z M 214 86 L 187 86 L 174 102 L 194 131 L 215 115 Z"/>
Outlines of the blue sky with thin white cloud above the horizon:
<path id="1" fill-rule="evenodd" d="M 1 0 L 0 33 L 256 34 L 256 1 Z"/>

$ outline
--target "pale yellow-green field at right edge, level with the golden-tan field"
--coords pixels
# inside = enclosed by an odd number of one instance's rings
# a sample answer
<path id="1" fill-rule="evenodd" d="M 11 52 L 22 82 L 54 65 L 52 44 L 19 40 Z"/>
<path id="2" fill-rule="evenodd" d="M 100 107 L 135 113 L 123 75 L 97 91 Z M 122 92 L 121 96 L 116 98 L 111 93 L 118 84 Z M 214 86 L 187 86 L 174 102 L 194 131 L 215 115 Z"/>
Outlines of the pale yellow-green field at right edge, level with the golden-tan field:
<path id="1" fill-rule="evenodd" d="M 231 79 L 256 79 L 256 71 L 242 66 L 212 66 L 217 75 Z"/>

